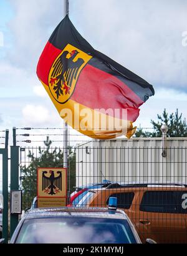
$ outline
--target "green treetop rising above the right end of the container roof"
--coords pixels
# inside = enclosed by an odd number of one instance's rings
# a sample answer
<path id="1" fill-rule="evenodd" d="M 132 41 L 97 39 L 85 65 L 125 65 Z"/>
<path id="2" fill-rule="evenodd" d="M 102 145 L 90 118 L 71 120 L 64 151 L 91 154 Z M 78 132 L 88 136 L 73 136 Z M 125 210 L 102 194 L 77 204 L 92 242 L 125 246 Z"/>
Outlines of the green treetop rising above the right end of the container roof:
<path id="1" fill-rule="evenodd" d="M 183 114 L 179 114 L 178 109 L 176 109 L 175 114 L 168 114 L 166 109 L 163 111 L 162 115 L 157 115 L 158 120 L 151 120 L 153 126 L 152 132 L 143 131 L 143 129 L 138 129 L 135 133 L 136 137 L 161 137 L 161 125 L 166 124 L 168 126 L 168 137 L 187 137 L 187 122 L 183 119 Z"/>

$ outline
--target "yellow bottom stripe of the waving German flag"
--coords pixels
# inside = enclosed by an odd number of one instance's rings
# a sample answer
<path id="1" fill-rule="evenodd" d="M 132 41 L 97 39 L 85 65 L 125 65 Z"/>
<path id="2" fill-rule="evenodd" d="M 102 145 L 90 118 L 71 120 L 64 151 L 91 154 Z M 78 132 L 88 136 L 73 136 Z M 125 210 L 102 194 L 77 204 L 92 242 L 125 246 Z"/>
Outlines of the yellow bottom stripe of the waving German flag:
<path id="1" fill-rule="evenodd" d="M 130 139 L 135 133 L 136 127 L 133 127 L 132 121 L 108 116 L 107 114 L 103 114 L 102 112 L 95 111 L 94 109 L 90 109 L 89 107 L 75 102 L 72 99 L 69 99 L 69 101 L 64 104 L 60 104 L 55 101 L 50 93 L 49 86 L 46 86 L 44 82 L 42 82 L 42 84 L 60 116 L 64 118 L 64 121 L 82 134 L 92 137 L 93 139 L 113 139 L 119 135 L 126 135 L 128 139 Z M 67 115 L 67 112 L 69 112 L 69 115 Z M 70 114 L 72 114 L 72 118 Z M 82 116 L 80 116 L 80 114 Z M 115 124 L 115 127 L 113 124 Z"/>

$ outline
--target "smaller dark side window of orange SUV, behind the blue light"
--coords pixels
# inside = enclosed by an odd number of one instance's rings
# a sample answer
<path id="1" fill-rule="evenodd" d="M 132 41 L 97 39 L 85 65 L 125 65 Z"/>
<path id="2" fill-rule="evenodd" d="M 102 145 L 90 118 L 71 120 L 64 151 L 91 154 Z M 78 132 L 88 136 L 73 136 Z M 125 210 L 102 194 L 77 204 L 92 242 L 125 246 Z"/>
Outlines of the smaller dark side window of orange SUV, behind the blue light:
<path id="1" fill-rule="evenodd" d="M 110 195 L 110 197 L 117 197 L 117 207 L 124 208 L 124 209 L 130 209 L 134 196 L 135 194 L 133 192 L 115 193 Z M 108 201 L 109 201 L 109 197 L 107 200 L 107 205 L 108 205 Z"/>

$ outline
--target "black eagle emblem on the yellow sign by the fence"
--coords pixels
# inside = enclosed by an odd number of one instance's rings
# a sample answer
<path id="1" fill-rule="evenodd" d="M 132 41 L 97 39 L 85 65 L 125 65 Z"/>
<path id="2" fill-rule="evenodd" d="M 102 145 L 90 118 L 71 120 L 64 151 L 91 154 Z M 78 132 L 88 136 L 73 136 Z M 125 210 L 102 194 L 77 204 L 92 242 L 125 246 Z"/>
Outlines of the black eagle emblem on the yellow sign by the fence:
<path id="1" fill-rule="evenodd" d="M 50 176 L 47 177 L 47 171 L 42 172 L 42 190 L 49 195 L 55 195 L 62 191 L 62 172 L 57 171 L 57 177 L 54 175 L 54 170 L 49 170 Z"/>

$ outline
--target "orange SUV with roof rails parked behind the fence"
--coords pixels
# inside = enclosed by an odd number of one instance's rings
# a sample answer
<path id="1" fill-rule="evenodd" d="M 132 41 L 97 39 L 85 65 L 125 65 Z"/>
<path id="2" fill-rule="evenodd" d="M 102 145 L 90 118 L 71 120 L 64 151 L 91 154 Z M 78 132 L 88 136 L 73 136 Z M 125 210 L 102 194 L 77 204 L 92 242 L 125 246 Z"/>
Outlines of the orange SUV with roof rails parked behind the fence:
<path id="1" fill-rule="evenodd" d="M 106 207 L 109 197 L 117 197 L 142 242 L 187 243 L 187 185 L 110 184 L 90 190 L 77 206 Z"/>

